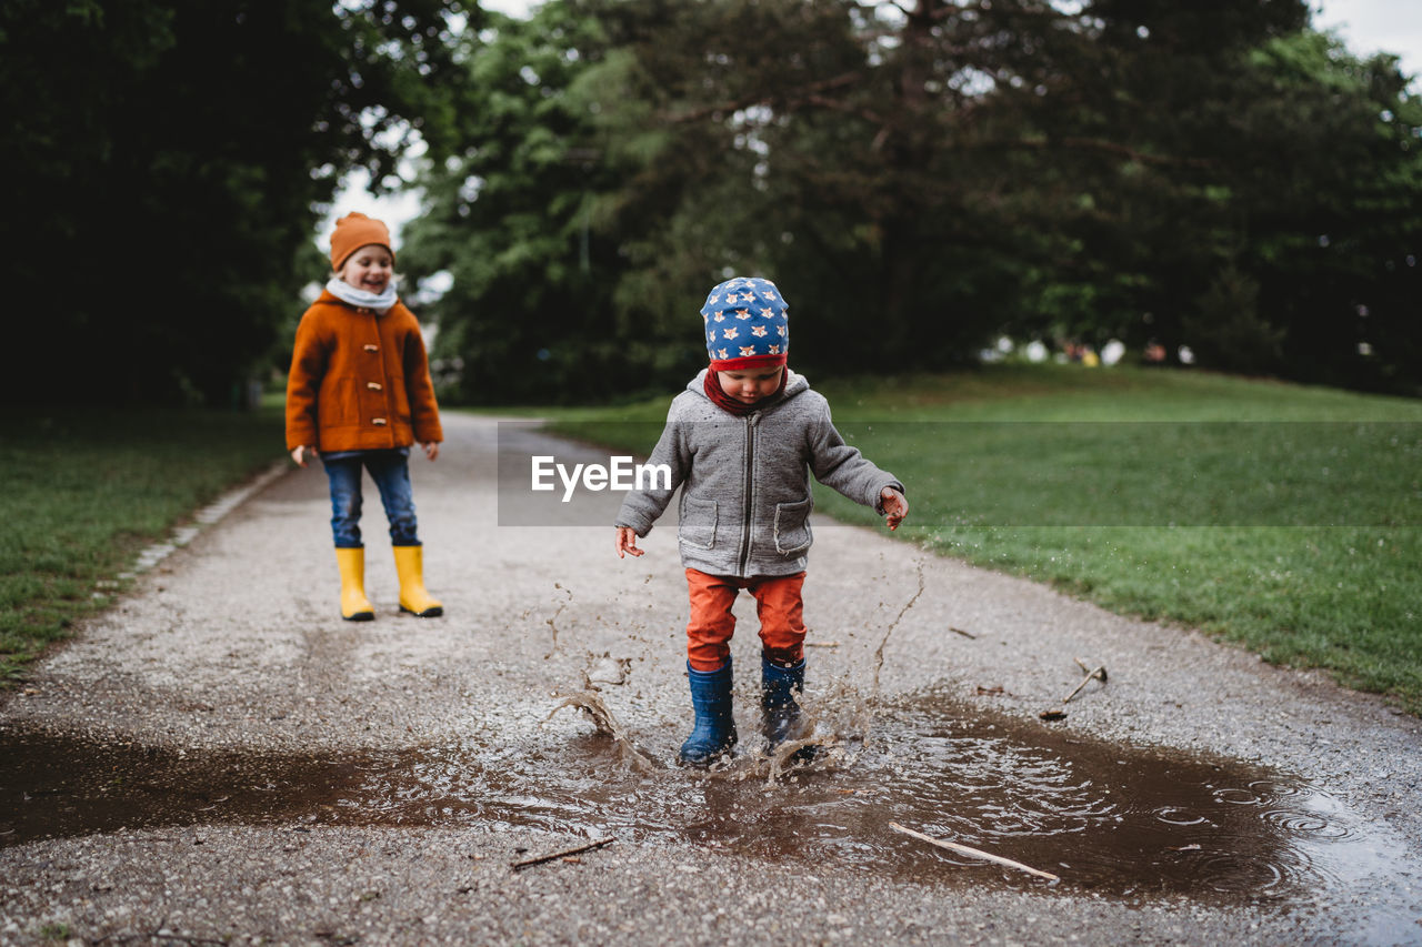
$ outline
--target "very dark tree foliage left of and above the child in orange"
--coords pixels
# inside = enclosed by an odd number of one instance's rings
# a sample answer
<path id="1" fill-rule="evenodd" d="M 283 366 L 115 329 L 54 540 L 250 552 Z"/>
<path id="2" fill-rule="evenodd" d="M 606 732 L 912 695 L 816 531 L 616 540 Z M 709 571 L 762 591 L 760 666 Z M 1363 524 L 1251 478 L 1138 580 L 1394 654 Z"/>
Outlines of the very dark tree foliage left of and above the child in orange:
<path id="1" fill-rule="evenodd" d="M 445 139 L 456 0 L 0 9 L 20 377 L 7 401 L 229 404 L 341 172 Z"/>

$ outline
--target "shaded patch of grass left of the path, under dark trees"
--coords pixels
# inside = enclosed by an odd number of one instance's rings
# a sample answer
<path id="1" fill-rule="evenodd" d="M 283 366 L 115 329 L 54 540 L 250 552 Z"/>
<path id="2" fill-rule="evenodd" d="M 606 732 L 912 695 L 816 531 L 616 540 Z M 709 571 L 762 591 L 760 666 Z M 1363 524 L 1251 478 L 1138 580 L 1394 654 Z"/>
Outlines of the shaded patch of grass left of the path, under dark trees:
<path id="1" fill-rule="evenodd" d="M 146 543 L 282 458 L 280 411 L 0 412 L 0 685 Z"/>

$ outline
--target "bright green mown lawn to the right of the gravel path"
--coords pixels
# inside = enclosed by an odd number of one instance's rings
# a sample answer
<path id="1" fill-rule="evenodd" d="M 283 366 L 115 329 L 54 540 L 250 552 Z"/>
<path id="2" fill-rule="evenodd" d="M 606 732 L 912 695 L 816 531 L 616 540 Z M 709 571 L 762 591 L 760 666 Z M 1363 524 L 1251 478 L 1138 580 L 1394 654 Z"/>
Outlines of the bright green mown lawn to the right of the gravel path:
<path id="1" fill-rule="evenodd" d="M 1422 401 L 1076 365 L 815 387 L 909 486 L 900 539 L 1422 714 Z M 646 452 L 668 401 L 555 417 Z"/>

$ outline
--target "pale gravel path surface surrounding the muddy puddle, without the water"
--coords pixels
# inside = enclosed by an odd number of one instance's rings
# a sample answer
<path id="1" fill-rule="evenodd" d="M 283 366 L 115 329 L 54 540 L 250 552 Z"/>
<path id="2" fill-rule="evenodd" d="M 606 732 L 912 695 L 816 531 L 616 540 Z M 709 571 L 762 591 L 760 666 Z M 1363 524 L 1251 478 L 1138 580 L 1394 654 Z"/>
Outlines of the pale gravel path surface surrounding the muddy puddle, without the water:
<path id="1" fill-rule="evenodd" d="M 361 825 L 328 799 L 304 810 L 296 792 L 270 818 L 225 819 L 219 806 L 209 816 L 115 818 L 11 842 L 0 849 L 0 943 L 1422 943 L 1418 719 L 1200 634 L 927 556 L 883 530 L 825 522 L 806 620 L 820 644 L 809 651 L 809 704 L 826 719 L 838 704 L 862 710 L 931 694 L 960 718 L 1042 731 L 1057 747 L 1267 768 L 1314 788 L 1332 806 L 1320 819 L 1351 826 L 1364 855 L 1287 896 L 1149 896 L 1091 890 L 1065 870 L 1059 884 L 951 862 L 876 872 L 722 845 L 687 826 L 638 833 L 626 816 L 636 799 L 609 803 L 624 812 L 616 825 L 600 822 L 593 805 L 562 820 L 523 818 L 516 796 L 529 792 L 528 774 L 557 774 L 563 759 L 580 774 L 560 788 L 567 799 L 610 798 L 596 785 L 599 771 L 607 785 L 633 779 L 586 717 L 555 712 L 560 695 L 583 691 L 586 674 L 624 680 L 597 694 L 654 762 L 637 791 L 648 812 L 656 803 L 663 815 L 685 815 L 694 802 L 675 809 L 668 801 L 714 795 L 704 776 L 663 766 L 690 719 L 675 533 L 658 525 L 643 543 L 647 556 L 623 562 L 610 528 L 576 525 L 586 509 L 547 508 L 546 519 L 569 525 L 499 526 L 498 425 L 451 412 L 445 429 L 438 462 L 411 461 L 427 580 L 444 619 L 397 614 L 384 518 L 367 501 L 367 589 L 378 619 L 343 623 L 326 482 L 314 469 L 293 472 L 203 529 L 41 661 L 24 688 L 0 697 L 0 737 L 131 747 L 168 766 L 445 754 L 456 762 L 442 778 L 462 778 L 462 759 L 482 774 L 486 805 L 417 812 L 373 799 L 380 818 Z M 506 456 L 515 446 L 597 456 L 503 432 Z M 610 522 L 616 499 L 592 502 Z M 738 715 L 748 734 L 754 697 L 744 668 L 757 665 L 758 643 L 754 609 L 737 614 Z M 1081 680 L 1076 657 L 1106 665 L 1109 683 L 1088 687 L 1064 721 L 1041 722 L 1038 712 L 1059 707 Z M 863 786 L 877 778 L 852 756 L 793 783 L 757 776 L 735 789 L 749 795 L 737 796 L 727 818 L 811 781 L 833 792 L 836 779 Z M 321 806 L 336 809 L 327 818 Z M 63 805 L 57 812 L 61 825 L 81 820 Z M 26 813 L 21 806 L 0 825 L 23 826 Z M 509 869 L 609 833 L 619 840 L 576 862 Z M 892 833 L 873 836 L 884 850 L 917 845 L 880 836 Z"/>

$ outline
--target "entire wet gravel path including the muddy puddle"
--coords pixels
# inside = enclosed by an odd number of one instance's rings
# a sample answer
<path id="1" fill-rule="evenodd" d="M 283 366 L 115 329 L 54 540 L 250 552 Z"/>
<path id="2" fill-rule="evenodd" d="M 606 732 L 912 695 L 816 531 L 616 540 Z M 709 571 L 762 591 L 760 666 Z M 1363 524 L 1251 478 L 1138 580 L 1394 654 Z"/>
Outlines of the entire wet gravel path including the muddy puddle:
<path id="1" fill-rule="evenodd" d="M 674 532 L 633 563 L 586 510 L 501 528 L 493 425 L 447 429 L 412 465 L 444 619 L 395 616 L 374 537 L 377 621 L 330 614 L 307 472 L 3 698 L 0 944 L 1422 943 L 1422 734 L 1374 698 L 826 528 L 826 748 L 762 756 L 741 675 L 738 755 L 681 769 Z M 1111 678 L 1064 707 L 1076 656 Z"/>

